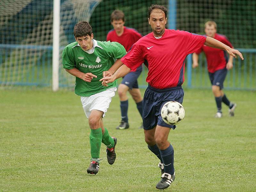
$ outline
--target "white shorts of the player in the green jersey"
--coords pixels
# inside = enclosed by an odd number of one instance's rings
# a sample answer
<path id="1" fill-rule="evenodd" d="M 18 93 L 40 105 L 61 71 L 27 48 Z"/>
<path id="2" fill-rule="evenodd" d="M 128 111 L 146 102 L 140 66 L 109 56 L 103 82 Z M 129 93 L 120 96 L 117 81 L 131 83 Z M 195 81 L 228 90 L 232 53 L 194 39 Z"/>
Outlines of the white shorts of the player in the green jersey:
<path id="1" fill-rule="evenodd" d="M 107 89 L 106 91 L 96 93 L 89 97 L 82 97 L 81 102 L 83 105 L 84 113 L 87 118 L 89 118 L 91 111 L 93 109 L 99 110 L 103 112 L 103 116 L 108 110 L 109 104 L 111 102 L 111 98 L 115 96 L 116 87 L 112 87 Z"/>

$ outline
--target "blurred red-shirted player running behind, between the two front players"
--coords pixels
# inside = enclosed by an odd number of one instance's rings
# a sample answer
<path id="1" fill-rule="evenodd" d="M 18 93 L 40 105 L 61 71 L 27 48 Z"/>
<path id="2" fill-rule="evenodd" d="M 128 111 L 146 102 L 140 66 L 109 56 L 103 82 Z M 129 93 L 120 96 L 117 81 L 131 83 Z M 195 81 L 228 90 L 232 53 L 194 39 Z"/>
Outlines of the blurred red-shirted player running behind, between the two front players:
<path id="1" fill-rule="evenodd" d="M 114 29 L 110 30 L 107 35 L 107 41 L 115 41 L 122 44 L 126 50 L 129 51 L 131 46 L 140 39 L 141 35 L 138 31 L 133 28 L 124 26 L 124 13 L 120 10 L 115 10 L 111 13 L 111 25 Z M 140 94 L 138 85 L 138 77 L 142 71 L 142 66 L 135 70 L 131 70 L 126 76 L 123 77 L 121 84 L 119 84 L 117 92 L 120 99 L 121 108 L 121 122 L 116 129 L 127 129 L 129 128 L 128 123 L 128 97 L 127 91 L 132 95 L 133 100 L 137 105 L 137 109 L 142 117 L 142 102 L 143 99 Z M 139 128 L 143 128 L 141 125 Z"/>

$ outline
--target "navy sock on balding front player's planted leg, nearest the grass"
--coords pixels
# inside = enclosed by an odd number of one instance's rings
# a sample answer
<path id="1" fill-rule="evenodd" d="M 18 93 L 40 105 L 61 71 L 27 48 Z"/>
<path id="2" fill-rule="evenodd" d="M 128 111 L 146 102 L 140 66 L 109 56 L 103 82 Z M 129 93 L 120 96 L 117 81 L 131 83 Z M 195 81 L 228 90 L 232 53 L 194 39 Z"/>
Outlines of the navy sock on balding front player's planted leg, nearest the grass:
<path id="1" fill-rule="evenodd" d="M 164 150 L 160 150 L 161 157 L 164 161 L 164 172 L 171 175 L 174 174 L 174 150 L 172 145 Z"/>

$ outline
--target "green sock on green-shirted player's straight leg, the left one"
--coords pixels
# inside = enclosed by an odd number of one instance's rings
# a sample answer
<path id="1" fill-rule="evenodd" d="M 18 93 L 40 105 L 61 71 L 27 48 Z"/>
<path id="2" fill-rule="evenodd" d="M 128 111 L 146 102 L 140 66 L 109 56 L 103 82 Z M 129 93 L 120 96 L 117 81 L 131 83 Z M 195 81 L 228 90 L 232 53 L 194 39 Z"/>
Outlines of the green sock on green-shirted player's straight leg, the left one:
<path id="1" fill-rule="evenodd" d="M 102 131 L 99 129 L 91 129 L 90 145 L 92 158 L 100 158 L 100 146 L 102 140 Z"/>

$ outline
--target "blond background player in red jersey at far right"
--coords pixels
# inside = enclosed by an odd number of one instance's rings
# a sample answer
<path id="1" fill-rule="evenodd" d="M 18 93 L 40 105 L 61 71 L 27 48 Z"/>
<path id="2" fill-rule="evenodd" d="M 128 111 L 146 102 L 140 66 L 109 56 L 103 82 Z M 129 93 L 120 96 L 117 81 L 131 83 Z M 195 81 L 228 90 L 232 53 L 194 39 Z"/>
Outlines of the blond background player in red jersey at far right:
<path id="1" fill-rule="evenodd" d="M 224 35 L 217 34 L 217 24 L 214 21 L 207 21 L 204 24 L 204 31 L 206 36 L 219 40 L 220 42 L 232 47 L 232 44 L 228 41 L 228 38 Z M 223 82 L 229 69 L 233 68 L 233 57 L 224 50 L 216 49 L 213 47 L 203 45 L 195 53 L 193 53 L 193 68 L 198 66 L 198 54 L 205 53 L 207 59 L 207 68 L 209 72 L 210 81 L 212 84 L 212 92 L 215 96 L 217 105 L 217 113 L 215 117 L 222 117 L 221 102 L 225 103 L 229 109 L 229 116 L 234 116 L 236 103 L 232 103 L 228 100 L 223 92 Z"/>

